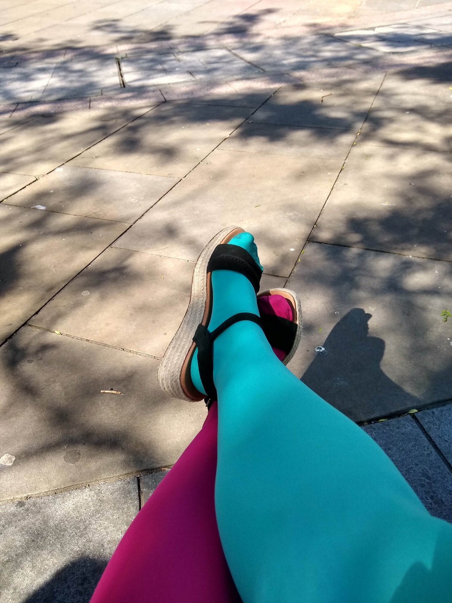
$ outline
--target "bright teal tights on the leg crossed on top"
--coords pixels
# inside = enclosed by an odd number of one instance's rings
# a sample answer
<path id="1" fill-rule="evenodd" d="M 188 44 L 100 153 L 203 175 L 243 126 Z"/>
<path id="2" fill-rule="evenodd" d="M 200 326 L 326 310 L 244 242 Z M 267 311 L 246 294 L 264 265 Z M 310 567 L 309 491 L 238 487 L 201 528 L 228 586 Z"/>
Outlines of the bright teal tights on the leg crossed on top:
<path id="1" fill-rule="evenodd" d="M 231 242 L 254 250 L 246 237 Z M 209 328 L 257 314 L 241 274 L 216 271 L 212 286 Z M 195 363 L 192 379 L 202 387 Z M 256 324 L 219 336 L 214 379 L 215 508 L 244 603 L 452 601 L 452 525 L 430 516 L 377 444 L 278 361 Z"/>

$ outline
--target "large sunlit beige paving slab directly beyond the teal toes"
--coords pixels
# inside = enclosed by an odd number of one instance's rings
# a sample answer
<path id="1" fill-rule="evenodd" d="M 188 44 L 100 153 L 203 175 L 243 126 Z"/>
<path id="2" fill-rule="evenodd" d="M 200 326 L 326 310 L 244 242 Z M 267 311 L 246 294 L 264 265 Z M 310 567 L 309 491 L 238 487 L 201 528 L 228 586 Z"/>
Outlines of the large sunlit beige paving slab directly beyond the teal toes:
<path id="1" fill-rule="evenodd" d="M 196 260 L 216 232 L 239 224 L 256 237 L 266 273 L 289 276 L 341 166 L 216 150 L 115 246 Z"/>

